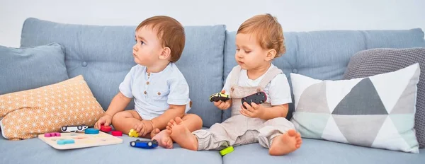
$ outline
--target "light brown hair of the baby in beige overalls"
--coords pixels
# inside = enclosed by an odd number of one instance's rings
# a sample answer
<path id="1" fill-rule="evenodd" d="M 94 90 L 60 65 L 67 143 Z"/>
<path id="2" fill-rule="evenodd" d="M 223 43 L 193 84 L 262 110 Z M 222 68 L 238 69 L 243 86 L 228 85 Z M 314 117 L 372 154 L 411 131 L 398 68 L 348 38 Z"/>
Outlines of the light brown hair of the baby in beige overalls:
<path id="1" fill-rule="evenodd" d="M 278 23 L 278 19 L 269 13 L 257 15 L 244 21 L 239 26 L 238 33 L 254 34 L 263 49 L 276 50 L 276 57 L 280 57 L 286 52 L 282 26 Z"/>

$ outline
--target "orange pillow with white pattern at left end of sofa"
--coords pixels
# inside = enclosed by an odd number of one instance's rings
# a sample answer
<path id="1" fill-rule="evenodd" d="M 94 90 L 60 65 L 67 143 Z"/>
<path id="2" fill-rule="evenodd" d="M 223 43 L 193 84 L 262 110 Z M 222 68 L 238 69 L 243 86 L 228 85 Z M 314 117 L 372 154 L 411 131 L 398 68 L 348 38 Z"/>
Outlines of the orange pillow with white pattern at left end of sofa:
<path id="1" fill-rule="evenodd" d="M 0 95 L 0 127 L 6 139 L 30 139 L 65 125 L 93 127 L 103 115 L 83 76 L 32 90 Z"/>

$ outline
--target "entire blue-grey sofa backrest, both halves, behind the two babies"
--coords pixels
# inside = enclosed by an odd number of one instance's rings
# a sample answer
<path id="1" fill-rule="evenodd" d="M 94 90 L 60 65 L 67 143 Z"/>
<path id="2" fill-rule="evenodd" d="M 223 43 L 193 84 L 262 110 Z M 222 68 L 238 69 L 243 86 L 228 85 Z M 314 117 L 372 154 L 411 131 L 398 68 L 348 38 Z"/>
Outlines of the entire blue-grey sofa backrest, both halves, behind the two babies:
<path id="1" fill-rule="evenodd" d="M 82 74 L 101 103 L 108 108 L 118 85 L 130 68 L 134 26 L 70 25 L 28 18 L 21 35 L 21 47 L 59 42 L 65 48 L 69 78 Z M 217 110 L 209 95 L 220 92 L 224 80 L 236 66 L 236 32 L 225 25 L 185 26 L 186 46 L 176 62 L 190 87 L 193 108 L 203 119 L 204 127 L 222 122 L 230 111 Z M 290 73 L 322 80 L 339 80 L 356 52 L 373 48 L 425 47 L 424 32 L 411 30 L 329 30 L 284 32 L 286 53 L 273 61 L 290 82 Z M 290 83 L 292 86 L 292 83 Z M 130 103 L 127 109 L 133 109 Z M 292 117 L 290 104 L 288 119 Z"/>

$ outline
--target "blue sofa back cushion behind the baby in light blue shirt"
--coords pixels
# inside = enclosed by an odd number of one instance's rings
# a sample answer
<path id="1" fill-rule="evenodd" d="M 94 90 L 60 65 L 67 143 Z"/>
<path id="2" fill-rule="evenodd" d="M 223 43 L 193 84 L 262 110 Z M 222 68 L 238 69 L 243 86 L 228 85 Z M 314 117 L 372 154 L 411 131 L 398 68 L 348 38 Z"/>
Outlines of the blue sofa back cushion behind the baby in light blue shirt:
<path id="1" fill-rule="evenodd" d="M 135 23 L 137 24 L 137 23 Z M 108 109 L 118 86 L 135 66 L 132 46 L 135 25 L 71 25 L 28 18 L 23 24 L 21 47 L 60 42 L 65 47 L 65 64 L 70 78 L 83 75 L 101 103 Z M 221 122 L 222 111 L 208 101 L 222 88 L 225 25 L 185 26 L 186 45 L 176 65 L 189 85 L 191 113 L 205 127 Z M 126 109 L 134 109 L 134 102 Z"/>

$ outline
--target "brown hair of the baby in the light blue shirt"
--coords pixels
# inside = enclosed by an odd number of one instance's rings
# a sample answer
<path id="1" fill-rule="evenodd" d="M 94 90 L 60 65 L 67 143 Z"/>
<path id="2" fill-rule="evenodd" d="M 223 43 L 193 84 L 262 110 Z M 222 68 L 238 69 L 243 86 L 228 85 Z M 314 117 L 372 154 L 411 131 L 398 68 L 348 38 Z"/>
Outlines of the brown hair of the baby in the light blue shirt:
<path id="1" fill-rule="evenodd" d="M 180 59 L 186 42 L 184 28 L 174 18 L 169 16 L 154 16 L 142 21 L 136 31 L 142 27 L 149 26 L 157 31 L 157 36 L 163 47 L 171 49 L 171 62 L 176 62 Z"/>

